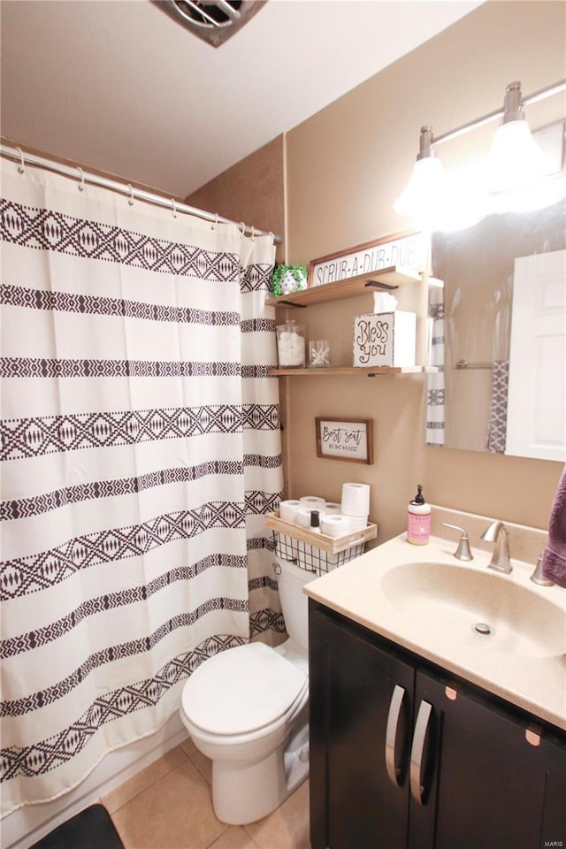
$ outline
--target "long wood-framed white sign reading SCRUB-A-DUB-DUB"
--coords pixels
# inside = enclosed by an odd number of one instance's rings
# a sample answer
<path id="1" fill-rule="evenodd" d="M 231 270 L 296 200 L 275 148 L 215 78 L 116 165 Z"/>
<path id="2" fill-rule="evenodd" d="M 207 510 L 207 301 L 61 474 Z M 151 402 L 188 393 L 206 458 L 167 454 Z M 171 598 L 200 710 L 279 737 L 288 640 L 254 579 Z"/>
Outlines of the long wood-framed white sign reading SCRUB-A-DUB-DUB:
<path id="1" fill-rule="evenodd" d="M 339 280 L 380 272 L 392 266 L 411 272 L 423 272 L 426 258 L 427 241 L 424 233 L 394 233 L 311 260 L 308 286 L 338 283 Z"/>

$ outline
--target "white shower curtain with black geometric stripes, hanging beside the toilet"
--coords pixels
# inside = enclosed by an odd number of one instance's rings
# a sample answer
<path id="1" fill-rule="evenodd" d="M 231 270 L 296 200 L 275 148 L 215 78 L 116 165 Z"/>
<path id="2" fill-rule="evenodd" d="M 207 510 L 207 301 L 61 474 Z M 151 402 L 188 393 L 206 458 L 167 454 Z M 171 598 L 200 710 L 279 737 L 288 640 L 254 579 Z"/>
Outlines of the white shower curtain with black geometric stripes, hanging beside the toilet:
<path id="1" fill-rule="evenodd" d="M 272 238 L 2 168 L 5 814 L 283 623 Z"/>

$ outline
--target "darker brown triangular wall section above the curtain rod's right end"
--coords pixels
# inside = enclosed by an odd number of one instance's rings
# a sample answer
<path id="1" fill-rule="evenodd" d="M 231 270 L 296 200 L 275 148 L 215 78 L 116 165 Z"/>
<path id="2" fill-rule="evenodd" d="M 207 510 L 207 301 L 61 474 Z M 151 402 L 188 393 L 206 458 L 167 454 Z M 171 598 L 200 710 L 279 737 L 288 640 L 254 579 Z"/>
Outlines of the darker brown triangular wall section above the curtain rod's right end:
<path id="1" fill-rule="evenodd" d="M 186 203 L 282 236 L 285 231 L 283 143 L 283 136 L 279 135 L 188 195 Z M 283 259 L 284 247 L 279 245 L 277 260 L 282 263 Z"/>

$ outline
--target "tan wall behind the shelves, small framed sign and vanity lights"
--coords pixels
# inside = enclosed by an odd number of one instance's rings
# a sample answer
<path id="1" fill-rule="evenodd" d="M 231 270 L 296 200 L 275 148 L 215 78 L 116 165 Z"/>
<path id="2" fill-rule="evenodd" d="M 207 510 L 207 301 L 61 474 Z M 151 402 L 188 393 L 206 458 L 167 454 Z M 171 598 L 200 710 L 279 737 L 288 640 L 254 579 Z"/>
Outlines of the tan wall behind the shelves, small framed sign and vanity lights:
<path id="1" fill-rule="evenodd" d="M 441 134 L 492 111 L 512 80 L 527 94 L 562 79 L 565 10 L 562 2 L 488 2 L 287 134 L 288 261 L 408 228 L 392 204 L 409 178 L 420 126 Z M 562 113 L 554 97 L 529 107 L 527 117 L 536 127 Z M 470 144 L 485 153 L 493 128 L 447 142 L 445 163 L 470 156 Z M 401 306 L 410 295 L 401 295 Z M 362 296 L 301 310 L 300 318 L 310 338 L 332 340 L 346 362 L 352 318 L 369 311 Z M 278 310 L 278 322 L 284 317 Z M 403 530 L 417 482 L 429 501 L 547 527 L 561 464 L 424 447 L 423 379 L 285 378 L 281 390 L 289 496 L 336 499 L 344 481 L 368 482 L 381 540 Z M 373 418 L 373 465 L 318 459 L 318 415 Z"/>

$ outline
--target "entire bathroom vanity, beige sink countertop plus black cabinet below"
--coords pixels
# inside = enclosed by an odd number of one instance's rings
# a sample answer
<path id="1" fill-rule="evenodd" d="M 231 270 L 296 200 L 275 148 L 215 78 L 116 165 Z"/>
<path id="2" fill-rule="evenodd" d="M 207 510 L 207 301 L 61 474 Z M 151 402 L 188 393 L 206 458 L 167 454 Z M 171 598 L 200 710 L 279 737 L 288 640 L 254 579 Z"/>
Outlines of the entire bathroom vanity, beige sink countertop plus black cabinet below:
<path id="1" fill-rule="evenodd" d="M 566 591 L 426 549 L 306 588 L 312 849 L 564 846 Z"/>

